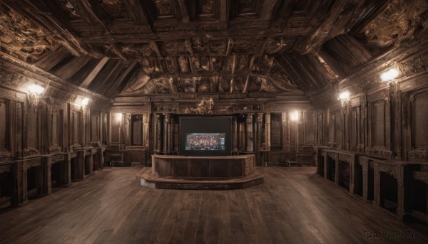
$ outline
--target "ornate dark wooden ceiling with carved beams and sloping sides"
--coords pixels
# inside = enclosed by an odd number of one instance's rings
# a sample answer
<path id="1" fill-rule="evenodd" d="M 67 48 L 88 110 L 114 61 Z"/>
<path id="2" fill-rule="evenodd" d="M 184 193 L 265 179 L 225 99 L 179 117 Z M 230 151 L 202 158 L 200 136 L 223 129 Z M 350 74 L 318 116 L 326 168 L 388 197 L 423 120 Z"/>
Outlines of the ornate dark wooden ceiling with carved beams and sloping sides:
<path id="1" fill-rule="evenodd" d="M 3 60 L 108 98 L 305 97 L 411 38 L 427 16 L 417 0 L 4 0 L 0 7 Z M 378 29 L 388 26 L 396 27 L 391 35 Z"/>

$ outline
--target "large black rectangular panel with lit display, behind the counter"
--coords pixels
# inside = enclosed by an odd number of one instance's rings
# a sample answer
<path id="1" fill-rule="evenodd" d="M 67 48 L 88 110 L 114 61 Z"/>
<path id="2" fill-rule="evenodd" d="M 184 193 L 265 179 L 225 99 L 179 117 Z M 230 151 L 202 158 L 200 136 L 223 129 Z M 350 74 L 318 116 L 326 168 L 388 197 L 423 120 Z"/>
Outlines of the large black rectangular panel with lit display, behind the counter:
<path id="1" fill-rule="evenodd" d="M 230 155 L 232 117 L 180 117 L 179 123 L 180 155 Z"/>

